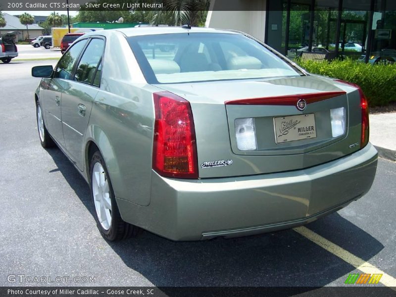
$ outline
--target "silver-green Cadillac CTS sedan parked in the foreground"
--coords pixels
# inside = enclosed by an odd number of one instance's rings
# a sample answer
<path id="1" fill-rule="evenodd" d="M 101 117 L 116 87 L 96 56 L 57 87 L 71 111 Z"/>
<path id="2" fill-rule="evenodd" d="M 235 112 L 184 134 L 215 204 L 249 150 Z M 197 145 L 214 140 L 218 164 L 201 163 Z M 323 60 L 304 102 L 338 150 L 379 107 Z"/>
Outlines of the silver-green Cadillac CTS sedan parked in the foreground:
<path id="1" fill-rule="evenodd" d="M 59 147 L 89 183 L 108 240 L 291 228 L 373 183 L 360 88 L 306 73 L 243 33 L 96 31 L 32 75 L 42 77 L 41 145 Z"/>

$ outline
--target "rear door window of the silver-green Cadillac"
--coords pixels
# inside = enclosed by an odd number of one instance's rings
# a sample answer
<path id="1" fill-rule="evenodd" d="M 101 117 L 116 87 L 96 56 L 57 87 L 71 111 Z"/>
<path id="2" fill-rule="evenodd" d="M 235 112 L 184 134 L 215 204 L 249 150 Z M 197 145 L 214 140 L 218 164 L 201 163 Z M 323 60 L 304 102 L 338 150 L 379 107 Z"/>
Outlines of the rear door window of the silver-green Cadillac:
<path id="1" fill-rule="evenodd" d="M 78 64 L 75 80 L 91 84 L 94 77 L 94 85 L 99 86 L 99 77 L 95 74 L 100 75 L 100 69 L 98 68 L 104 49 L 104 40 L 93 39 L 85 50 L 83 56 L 81 57 L 80 63 Z M 97 71 L 98 70 L 98 71 Z"/>

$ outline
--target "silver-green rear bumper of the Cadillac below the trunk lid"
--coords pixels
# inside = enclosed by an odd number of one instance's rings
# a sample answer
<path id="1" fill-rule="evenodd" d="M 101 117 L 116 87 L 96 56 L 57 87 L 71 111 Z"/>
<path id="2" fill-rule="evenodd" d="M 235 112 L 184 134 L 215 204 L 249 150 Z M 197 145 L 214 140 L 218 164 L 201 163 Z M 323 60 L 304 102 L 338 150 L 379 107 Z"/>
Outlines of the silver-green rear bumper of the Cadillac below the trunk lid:
<path id="1" fill-rule="evenodd" d="M 337 211 L 370 189 L 377 150 L 303 170 L 180 180 L 153 172 L 151 202 L 117 199 L 122 218 L 171 240 L 238 237 L 292 228 Z"/>

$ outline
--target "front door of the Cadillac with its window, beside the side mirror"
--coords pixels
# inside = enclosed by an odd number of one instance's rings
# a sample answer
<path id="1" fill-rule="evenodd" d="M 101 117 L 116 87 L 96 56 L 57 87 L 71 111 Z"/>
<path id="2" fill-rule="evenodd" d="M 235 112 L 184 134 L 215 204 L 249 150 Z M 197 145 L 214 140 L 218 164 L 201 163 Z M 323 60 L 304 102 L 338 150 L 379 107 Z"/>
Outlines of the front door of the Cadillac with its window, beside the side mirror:
<path id="1" fill-rule="evenodd" d="M 69 50 L 67 54 L 60 58 L 52 79 L 49 79 L 47 83 L 46 91 L 43 94 L 44 98 L 40 98 L 40 101 L 44 104 L 49 134 L 62 148 L 65 148 L 61 115 L 62 92 L 70 88 L 69 82 L 73 66 L 86 43 L 87 41 L 76 44 L 73 50 Z"/>

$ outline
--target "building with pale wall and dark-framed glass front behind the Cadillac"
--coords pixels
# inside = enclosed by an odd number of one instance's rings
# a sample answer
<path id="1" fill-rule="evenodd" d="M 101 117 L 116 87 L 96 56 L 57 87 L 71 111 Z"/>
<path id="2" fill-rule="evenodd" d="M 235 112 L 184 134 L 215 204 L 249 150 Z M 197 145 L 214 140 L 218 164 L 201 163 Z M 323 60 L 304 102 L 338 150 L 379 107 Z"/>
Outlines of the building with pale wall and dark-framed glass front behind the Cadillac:
<path id="1" fill-rule="evenodd" d="M 211 0 L 210 10 L 206 26 L 244 31 L 289 57 L 396 58 L 396 0 Z"/>

